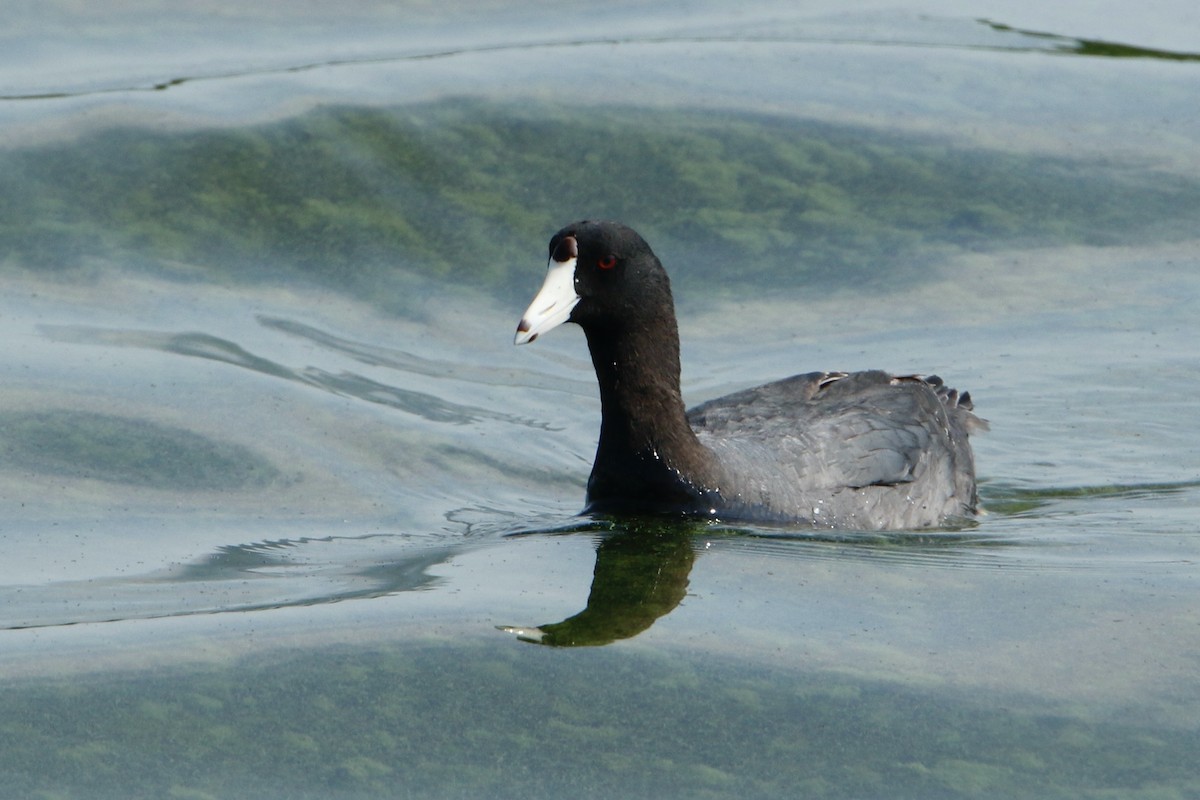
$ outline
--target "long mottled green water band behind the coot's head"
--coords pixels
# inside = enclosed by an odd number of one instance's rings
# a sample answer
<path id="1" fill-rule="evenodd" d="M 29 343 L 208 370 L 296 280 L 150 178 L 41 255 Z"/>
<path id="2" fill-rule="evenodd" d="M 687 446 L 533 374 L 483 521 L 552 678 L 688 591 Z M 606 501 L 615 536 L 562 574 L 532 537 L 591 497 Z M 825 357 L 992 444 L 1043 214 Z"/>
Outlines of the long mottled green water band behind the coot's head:
<path id="1" fill-rule="evenodd" d="M 0 154 L 0 267 L 523 297 L 550 234 L 641 230 L 696 295 L 916 279 L 964 249 L 1194 235 L 1200 182 L 772 116 L 443 101 Z M 684 264 L 686 266 L 684 266 Z"/>

